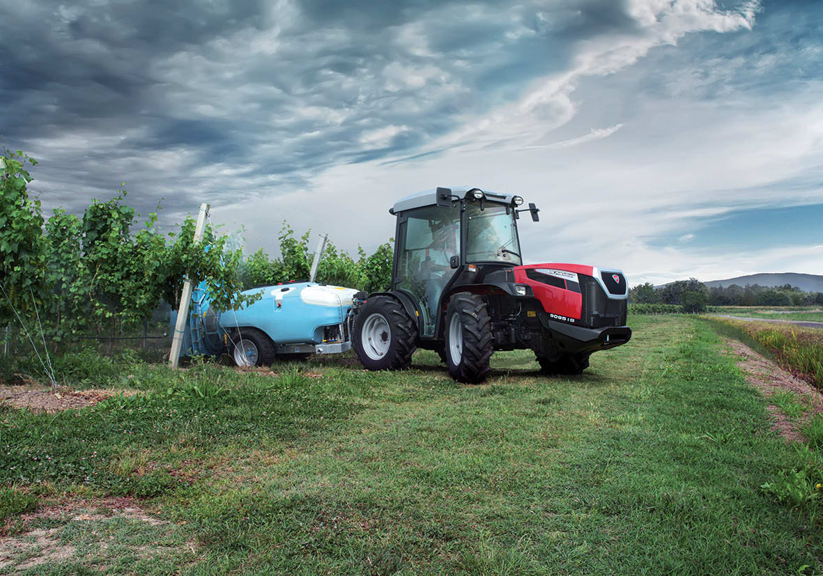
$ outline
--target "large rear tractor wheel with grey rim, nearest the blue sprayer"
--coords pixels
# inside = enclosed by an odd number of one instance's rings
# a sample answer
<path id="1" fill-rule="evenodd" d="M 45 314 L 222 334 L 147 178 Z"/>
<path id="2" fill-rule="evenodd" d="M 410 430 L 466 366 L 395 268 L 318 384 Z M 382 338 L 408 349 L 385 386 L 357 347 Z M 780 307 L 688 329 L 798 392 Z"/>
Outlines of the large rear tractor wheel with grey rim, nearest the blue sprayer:
<path id="1" fill-rule="evenodd" d="M 399 370 L 412 364 L 417 330 L 402 304 L 390 296 L 373 296 L 355 316 L 351 336 L 366 369 Z"/>

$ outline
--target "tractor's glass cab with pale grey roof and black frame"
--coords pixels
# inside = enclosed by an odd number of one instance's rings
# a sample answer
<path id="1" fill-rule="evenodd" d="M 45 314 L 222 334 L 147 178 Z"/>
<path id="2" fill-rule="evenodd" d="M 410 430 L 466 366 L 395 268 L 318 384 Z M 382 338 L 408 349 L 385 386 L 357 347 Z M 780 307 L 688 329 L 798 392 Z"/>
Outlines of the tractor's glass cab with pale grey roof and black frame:
<path id="1" fill-rule="evenodd" d="M 464 272 L 486 273 L 523 263 L 517 220 L 523 198 L 480 188 L 437 188 L 400 199 L 391 290 L 416 304 L 421 337 L 434 337 L 445 291 Z M 537 208 L 529 208 L 537 220 Z"/>

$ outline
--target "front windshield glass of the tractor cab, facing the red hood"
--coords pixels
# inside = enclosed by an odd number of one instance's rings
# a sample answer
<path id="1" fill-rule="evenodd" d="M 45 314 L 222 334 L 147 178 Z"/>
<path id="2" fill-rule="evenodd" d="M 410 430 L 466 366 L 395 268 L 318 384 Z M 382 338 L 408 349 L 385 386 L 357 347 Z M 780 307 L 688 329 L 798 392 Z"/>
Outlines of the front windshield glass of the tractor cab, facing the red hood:
<path id="1" fill-rule="evenodd" d="M 467 262 L 523 263 L 514 226 L 514 210 L 501 204 L 470 202 L 466 206 Z"/>

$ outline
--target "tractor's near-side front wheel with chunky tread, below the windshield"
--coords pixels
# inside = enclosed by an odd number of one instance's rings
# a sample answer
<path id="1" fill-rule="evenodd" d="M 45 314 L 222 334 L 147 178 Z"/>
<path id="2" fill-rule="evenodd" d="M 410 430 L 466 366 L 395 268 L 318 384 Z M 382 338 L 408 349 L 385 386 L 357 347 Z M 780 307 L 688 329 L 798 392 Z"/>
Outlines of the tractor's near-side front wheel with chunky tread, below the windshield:
<path id="1" fill-rule="evenodd" d="M 494 351 L 491 317 L 480 296 L 459 293 L 446 310 L 446 365 L 458 382 L 481 383 L 489 374 Z"/>

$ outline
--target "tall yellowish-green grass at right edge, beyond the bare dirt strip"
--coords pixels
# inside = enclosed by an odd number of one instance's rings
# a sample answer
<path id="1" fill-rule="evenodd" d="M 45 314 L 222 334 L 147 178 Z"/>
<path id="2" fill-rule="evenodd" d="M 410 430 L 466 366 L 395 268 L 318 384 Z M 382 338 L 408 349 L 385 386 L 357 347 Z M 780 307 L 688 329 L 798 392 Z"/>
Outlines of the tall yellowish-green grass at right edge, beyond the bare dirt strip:
<path id="1" fill-rule="evenodd" d="M 733 318 L 707 318 L 707 322 L 724 334 L 756 342 L 784 368 L 802 374 L 823 389 L 823 331 Z"/>

